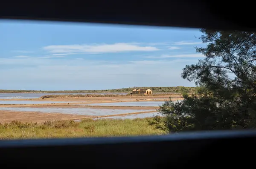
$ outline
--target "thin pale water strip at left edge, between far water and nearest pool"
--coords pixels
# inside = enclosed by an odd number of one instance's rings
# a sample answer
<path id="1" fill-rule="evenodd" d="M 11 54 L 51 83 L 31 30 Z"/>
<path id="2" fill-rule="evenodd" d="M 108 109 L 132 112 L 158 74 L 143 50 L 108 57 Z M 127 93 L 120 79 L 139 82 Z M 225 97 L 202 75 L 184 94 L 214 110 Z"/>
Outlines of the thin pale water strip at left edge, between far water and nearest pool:
<path id="1" fill-rule="evenodd" d="M 0 100 L 0 104 L 51 104 L 51 103 L 74 103 L 74 101 Z"/>

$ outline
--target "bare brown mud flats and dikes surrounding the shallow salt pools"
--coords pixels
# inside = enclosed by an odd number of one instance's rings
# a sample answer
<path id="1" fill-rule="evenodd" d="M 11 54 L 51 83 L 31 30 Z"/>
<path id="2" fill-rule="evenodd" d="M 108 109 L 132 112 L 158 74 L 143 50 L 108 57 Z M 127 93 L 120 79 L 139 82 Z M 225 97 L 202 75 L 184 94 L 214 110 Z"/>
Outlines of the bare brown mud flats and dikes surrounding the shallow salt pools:
<path id="1" fill-rule="evenodd" d="M 92 109 L 123 109 L 123 110 L 134 110 L 132 113 L 123 113 L 123 114 L 113 114 L 113 115 L 100 115 L 100 116 L 89 116 L 89 115 L 74 115 L 74 114 L 64 114 L 64 113 L 42 113 L 42 112 L 20 112 L 20 111 L 6 111 L 0 110 L 0 123 L 8 123 L 13 120 L 18 120 L 22 122 L 38 122 L 42 123 L 47 120 L 79 120 L 83 118 L 97 118 L 97 117 L 111 117 L 111 116 L 125 116 L 132 114 L 141 114 L 141 113 L 150 113 L 156 112 L 156 106 L 90 106 L 86 104 L 92 103 L 116 103 L 116 102 L 146 102 L 146 101 L 165 101 L 169 100 L 170 96 L 147 96 L 147 97 L 79 97 L 79 98 L 32 98 L 32 99 L 12 99 L 15 100 L 29 100 L 35 101 L 34 104 L 12 104 L 12 105 L 0 105 L 0 107 L 30 107 L 30 108 L 79 108 L 87 107 Z M 171 95 L 172 100 L 182 100 L 180 95 Z M 10 100 L 10 99 L 0 99 L 0 100 Z M 36 104 L 36 101 L 65 101 L 72 103 L 54 103 L 54 104 Z M 78 103 L 84 105 L 77 105 Z M 141 112 L 136 112 L 136 110 L 145 110 Z"/>

